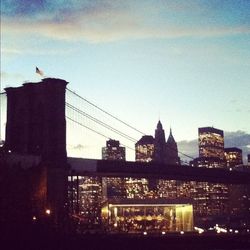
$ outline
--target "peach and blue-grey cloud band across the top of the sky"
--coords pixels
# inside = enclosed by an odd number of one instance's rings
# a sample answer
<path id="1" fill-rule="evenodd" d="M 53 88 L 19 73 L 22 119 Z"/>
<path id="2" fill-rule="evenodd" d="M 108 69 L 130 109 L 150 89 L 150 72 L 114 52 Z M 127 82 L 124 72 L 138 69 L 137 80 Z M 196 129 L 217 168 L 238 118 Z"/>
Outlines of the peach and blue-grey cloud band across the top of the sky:
<path id="1" fill-rule="evenodd" d="M 35 9 L 34 12 L 30 11 L 27 4 L 21 10 L 17 4 L 13 12 L 3 12 L 3 34 L 40 35 L 99 43 L 123 39 L 214 37 L 250 33 L 249 25 L 245 23 L 215 25 L 208 22 L 209 18 L 206 22 L 207 17 L 204 17 L 202 23 L 195 22 L 195 19 L 188 24 L 182 23 L 181 19 L 172 20 L 169 11 L 173 10 L 173 6 L 169 10 L 170 5 L 165 6 L 168 15 L 164 16 L 159 4 L 152 9 L 147 4 L 139 4 L 133 9 L 131 3 L 122 4 L 119 1 L 90 1 L 92 3 L 84 4 L 78 1 L 69 1 L 68 4 L 67 1 L 56 1 L 56 5 L 48 5 L 46 1 L 33 2 L 36 3 L 31 8 Z M 191 9 L 185 7 L 184 10 L 187 11 L 184 14 L 190 15 L 189 19 L 192 20 Z M 175 6 L 175 11 L 179 14 L 183 9 Z"/>

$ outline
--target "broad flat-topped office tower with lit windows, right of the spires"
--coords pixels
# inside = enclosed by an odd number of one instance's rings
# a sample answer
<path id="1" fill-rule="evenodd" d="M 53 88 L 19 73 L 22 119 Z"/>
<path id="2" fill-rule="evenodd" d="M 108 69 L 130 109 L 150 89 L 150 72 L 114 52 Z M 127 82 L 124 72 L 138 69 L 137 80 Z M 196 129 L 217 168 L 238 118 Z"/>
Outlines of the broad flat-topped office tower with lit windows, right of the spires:
<path id="1" fill-rule="evenodd" d="M 199 128 L 199 157 L 224 159 L 224 133 L 213 127 Z"/>

